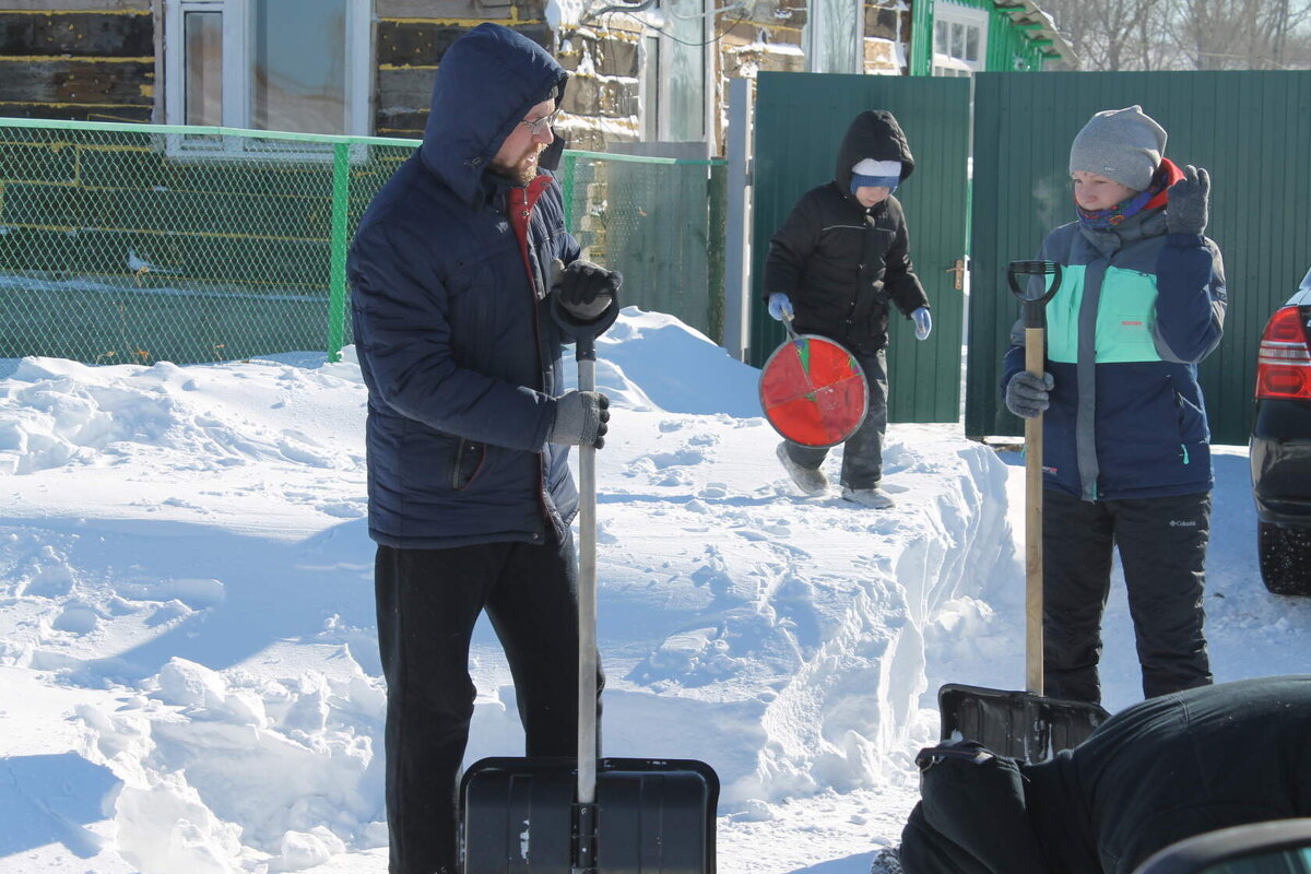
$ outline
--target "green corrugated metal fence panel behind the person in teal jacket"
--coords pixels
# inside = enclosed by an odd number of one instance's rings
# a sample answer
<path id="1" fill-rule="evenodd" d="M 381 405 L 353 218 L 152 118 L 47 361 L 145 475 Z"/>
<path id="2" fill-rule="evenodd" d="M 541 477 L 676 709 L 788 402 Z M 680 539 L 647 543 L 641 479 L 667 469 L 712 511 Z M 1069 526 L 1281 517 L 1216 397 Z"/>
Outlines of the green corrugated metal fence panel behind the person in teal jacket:
<path id="1" fill-rule="evenodd" d="M 1020 434 L 1000 400 L 1019 307 L 1006 265 L 1036 257 L 1075 218 L 1070 142 L 1092 113 L 1141 104 L 1165 155 L 1211 173 L 1206 233 L 1224 257 L 1224 341 L 1200 367 L 1215 443 L 1251 430 L 1256 351 L 1269 314 L 1311 266 L 1311 72 L 982 73 L 975 77 L 968 434 Z"/>

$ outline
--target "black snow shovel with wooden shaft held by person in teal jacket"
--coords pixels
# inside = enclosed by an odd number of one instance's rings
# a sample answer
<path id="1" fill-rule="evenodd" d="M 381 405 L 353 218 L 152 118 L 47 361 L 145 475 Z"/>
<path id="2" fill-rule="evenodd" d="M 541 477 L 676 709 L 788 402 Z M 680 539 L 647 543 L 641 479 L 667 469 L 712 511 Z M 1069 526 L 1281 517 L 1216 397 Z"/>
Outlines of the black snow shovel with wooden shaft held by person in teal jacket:
<path id="1" fill-rule="evenodd" d="M 1061 287 L 1061 265 L 1012 261 L 1011 291 L 1024 301 L 1024 367 L 1040 379 L 1046 360 L 1046 305 Z M 1025 276 L 1024 287 L 1017 276 Z M 1046 286 L 1047 278 L 1051 286 Z M 977 740 L 992 752 L 1044 761 L 1084 740 L 1109 718 L 1096 704 L 1042 694 L 1042 415 L 1024 421 L 1025 691 L 948 683 L 937 691 L 941 739 Z"/>

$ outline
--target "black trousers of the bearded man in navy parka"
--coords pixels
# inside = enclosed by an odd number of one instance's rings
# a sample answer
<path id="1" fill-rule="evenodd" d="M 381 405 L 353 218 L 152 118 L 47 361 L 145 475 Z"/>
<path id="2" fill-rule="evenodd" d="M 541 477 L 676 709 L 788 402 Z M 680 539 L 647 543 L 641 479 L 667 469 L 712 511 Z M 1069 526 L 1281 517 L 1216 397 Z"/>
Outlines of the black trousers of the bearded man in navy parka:
<path id="1" fill-rule="evenodd" d="M 458 791 L 475 697 L 469 641 L 484 609 L 510 663 L 526 753 L 577 755 L 573 537 L 544 545 L 379 546 L 374 582 L 387 676 L 388 871 L 455 874 Z"/>

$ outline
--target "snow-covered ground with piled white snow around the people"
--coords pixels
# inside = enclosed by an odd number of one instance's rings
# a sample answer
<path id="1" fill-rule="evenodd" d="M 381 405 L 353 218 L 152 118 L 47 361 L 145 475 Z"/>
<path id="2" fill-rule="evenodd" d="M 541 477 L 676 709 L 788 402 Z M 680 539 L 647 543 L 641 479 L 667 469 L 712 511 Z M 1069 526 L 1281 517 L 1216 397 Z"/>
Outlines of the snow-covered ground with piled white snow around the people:
<path id="1" fill-rule="evenodd" d="M 1019 456 L 893 426 L 894 510 L 800 498 L 756 371 L 636 309 L 599 351 L 606 752 L 716 768 L 722 874 L 864 874 L 937 685 L 1023 684 Z M 0 873 L 385 871 L 350 355 L 0 372 Z M 1311 672 L 1311 603 L 1256 574 L 1245 449 L 1215 468 L 1215 675 Z M 486 625 L 472 667 L 469 760 L 519 755 Z M 1122 583 L 1104 676 L 1139 700 Z"/>

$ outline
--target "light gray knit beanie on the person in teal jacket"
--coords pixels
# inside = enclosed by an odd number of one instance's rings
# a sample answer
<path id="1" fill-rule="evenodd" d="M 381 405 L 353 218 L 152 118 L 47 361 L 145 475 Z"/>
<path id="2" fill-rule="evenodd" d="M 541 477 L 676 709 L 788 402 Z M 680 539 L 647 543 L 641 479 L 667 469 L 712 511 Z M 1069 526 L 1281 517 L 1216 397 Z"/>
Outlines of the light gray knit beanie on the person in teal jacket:
<path id="1" fill-rule="evenodd" d="M 1165 128 L 1142 106 L 1108 109 L 1083 126 L 1070 147 L 1070 172 L 1096 173 L 1143 191 L 1165 152 Z"/>

